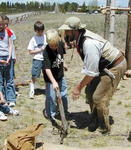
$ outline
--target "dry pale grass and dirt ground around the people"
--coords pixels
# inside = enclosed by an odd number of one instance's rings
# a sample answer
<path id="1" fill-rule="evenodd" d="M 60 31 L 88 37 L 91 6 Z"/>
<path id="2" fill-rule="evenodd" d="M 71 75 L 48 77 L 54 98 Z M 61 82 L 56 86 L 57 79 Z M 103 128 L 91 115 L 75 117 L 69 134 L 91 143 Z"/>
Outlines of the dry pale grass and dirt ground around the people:
<path id="1" fill-rule="evenodd" d="M 28 21 L 21 24 L 12 25 L 11 28 L 17 36 L 17 63 L 16 63 L 16 79 L 15 82 L 25 82 L 30 79 L 31 56 L 26 50 L 30 38 L 33 36 L 33 24 L 36 20 L 44 20 L 46 30 L 49 28 L 57 28 L 64 19 L 70 15 L 42 14 L 32 17 Z M 88 25 L 90 30 L 103 35 L 103 15 L 79 15 L 83 23 Z M 97 20 L 97 21 L 94 21 Z M 116 46 L 124 50 L 126 37 L 126 16 L 117 16 L 116 18 Z M 121 80 L 115 95 L 110 102 L 110 115 L 113 117 L 111 134 L 103 136 L 99 130 L 95 132 L 88 131 L 89 123 L 89 106 L 85 103 L 84 90 L 80 99 L 73 101 L 71 92 L 73 87 L 82 79 L 81 72 L 82 61 L 77 52 L 74 51 L 73 60 L 71 55 L 73 50 L 67 51 L 65 57 L 68 64 L 68 71 L 65 76 L 68 82 L 68 99 L 69 111 L 73 114 L 73 120 L 69 122 L 70 128 L 67 138 L 64 139 L 64 146 L 68 146 L 69 150 L 77 150 L 79 148 L 92 149 L 102 148 L 104 150 L 118 150 L 127 147 L 131 149 L 131 142 L 127 140 L 129 131 L 131 131 L 131 78 Z M 36 138 L 36 141 L 51 143 L 51 145 L 59 145 L 60 135 L 58 130 L 53 131 L 51 123 L 43 117 L 43 109 L 45 103 L 45 85 L 43 78 L 38 80 L 36 84 L 35 99 L 29 99 L 29 86 L 18 87 L 18 97 L 16 109 L 20 111 L 20 116 L 9 116 L 8 121 L 0 122 L 0 149 L 4 140 L 8 135 L 19 129 L 26 128 L 32 124 L 44 123 L 43 132 Z M 111 147 L 112 146 L 112 147 Z M 49 146 L 48 146 L 49 147 Z M 54 149 L 53 145 L 53 149 Z M 76 147 L 76 148 L 75 148 Z M 111 147 L 111 148 L 108 148 Z M 115 148 L 114 148 L 115 147 Z M 59 148 L 59 146 L 58 146 Z M 59 148 L 62 150 L 62 148 Z M 57 150 L 57 149 L 56 149 Z M 64 150 L 64 149 L 63 149 Z"/>

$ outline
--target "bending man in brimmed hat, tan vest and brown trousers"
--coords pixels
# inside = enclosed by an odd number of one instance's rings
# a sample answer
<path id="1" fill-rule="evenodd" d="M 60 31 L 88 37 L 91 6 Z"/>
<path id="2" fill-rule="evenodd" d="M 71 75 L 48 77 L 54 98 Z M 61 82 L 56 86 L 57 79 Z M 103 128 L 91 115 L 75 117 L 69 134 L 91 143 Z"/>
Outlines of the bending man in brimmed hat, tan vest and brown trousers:
<path id="1" fill-rule="evenodd" d="M 126 70 L 126 60 L 122 53 L 109 41 L 85 29 L 78 17 L 69 17 L 59 30 L 65 31 L 68 43 L 75 46 L 84 62 L 84 78 L 73 90 L 73 99 L 80 96 L 86 86 L 86 97 L 91 108 L 89 131 L 98 127 L 104 133 L 110 132 L 109 101 Z M 67 38 L 68 37 L 68 38 Z"/>

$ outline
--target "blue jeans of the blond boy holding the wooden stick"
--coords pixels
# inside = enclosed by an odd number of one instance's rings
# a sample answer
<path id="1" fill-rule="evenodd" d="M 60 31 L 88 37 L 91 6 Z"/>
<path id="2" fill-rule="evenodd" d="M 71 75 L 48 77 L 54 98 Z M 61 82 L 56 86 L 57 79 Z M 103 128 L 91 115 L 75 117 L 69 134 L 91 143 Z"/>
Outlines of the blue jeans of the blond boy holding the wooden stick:
<path id="1" fill-rule="evenodd" d="M 68 111 L 68 101 L 67 101 L 67 83 L 64 77 L 58 82 L 61 98 L 64 106 L 64 111 Z M 52 83 L 46 82 L 46 103 L 45 109 L 47 116 L 49 118 L 53 118 L 58 111 L 57 100 L 56 100 L 56 93 L 53 89 Z"/>

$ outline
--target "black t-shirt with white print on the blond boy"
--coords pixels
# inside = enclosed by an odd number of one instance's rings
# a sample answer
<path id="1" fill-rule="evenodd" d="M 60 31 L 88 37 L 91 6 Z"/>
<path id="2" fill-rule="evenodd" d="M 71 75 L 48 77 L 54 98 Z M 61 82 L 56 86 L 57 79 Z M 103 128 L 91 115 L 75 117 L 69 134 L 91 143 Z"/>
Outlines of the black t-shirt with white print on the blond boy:
<path id="1" fill-rule="evenodd" d="M 63 54 L 65 54 L 64 43 L 59 42 L 58 50 L 52 50 L 48 45 L 43 52 L 44 65 L 43 73 L 45 82 L 51 82 L 48 78 L 45 69 L 50 69 L 55 80 L 59 81 L 64 76 L 63 70 Z"/>

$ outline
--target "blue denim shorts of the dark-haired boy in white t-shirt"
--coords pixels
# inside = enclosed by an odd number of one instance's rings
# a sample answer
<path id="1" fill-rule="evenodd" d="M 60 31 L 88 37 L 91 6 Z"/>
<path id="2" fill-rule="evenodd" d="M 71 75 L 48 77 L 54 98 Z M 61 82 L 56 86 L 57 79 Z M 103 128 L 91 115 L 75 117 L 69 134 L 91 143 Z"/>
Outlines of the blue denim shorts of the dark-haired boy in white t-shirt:
<path id="1" fill-rule="evenodd" d="M 43 66 L 42 60 L 33 59 L 33 61 L 32 61 L 32 77 L 33 78 L 40 77 L 42 66 Z"/>

